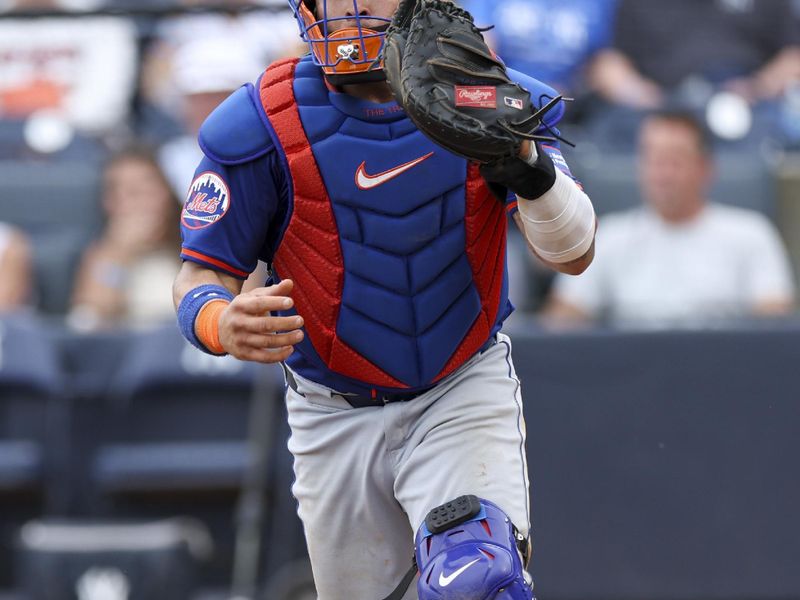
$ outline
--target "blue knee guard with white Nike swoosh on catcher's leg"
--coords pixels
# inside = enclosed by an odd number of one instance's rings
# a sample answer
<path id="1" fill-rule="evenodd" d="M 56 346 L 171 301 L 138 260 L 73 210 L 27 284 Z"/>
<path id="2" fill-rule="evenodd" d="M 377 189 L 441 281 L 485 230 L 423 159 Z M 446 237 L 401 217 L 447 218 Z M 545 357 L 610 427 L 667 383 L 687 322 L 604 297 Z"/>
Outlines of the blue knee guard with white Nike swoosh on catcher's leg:
<path id="1" fill-rule="evenodd" d="M 487 500 L 461 496 L 433 509 L 416 537 L 419 600 L 532 600 L 523 544 Z"/>

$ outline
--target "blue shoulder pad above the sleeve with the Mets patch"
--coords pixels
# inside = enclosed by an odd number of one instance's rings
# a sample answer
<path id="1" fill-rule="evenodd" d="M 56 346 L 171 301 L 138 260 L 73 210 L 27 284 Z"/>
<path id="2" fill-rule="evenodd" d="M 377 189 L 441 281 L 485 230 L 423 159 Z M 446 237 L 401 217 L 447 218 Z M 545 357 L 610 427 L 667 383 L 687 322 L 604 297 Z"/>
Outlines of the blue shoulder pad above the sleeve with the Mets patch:
<path id="1" fill-rule="evenodd" d="M 275 142 L 256 105 L 252 84 L 228 96 L 200 127 L 203 153 L 223 165 L 238 165 L 264 156 Z"/>

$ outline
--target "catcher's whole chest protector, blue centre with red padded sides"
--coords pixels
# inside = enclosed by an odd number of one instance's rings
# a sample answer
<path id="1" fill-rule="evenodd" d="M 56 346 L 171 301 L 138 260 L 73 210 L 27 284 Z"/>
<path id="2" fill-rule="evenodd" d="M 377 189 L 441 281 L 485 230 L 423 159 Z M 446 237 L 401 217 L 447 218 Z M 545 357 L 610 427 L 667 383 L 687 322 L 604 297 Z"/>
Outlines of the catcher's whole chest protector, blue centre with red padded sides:
<path id="1" fill-rule="evenodd" d="M 552 96 L 539 86 L 534 99 Z M 361 393 L 422 389 L 463 364 L 511 310 L 505 210 L 474 165 L 397 104 L 329 90 L 308 58 L 274 65 L 240 96 L 292 182 L 275 266 L 298 284 L 308 335 L 290 365 Z M 201 134 L 207 154 L 233 164 L 258 155 L 252 133 L 236 147 L 212 129 Z"/>

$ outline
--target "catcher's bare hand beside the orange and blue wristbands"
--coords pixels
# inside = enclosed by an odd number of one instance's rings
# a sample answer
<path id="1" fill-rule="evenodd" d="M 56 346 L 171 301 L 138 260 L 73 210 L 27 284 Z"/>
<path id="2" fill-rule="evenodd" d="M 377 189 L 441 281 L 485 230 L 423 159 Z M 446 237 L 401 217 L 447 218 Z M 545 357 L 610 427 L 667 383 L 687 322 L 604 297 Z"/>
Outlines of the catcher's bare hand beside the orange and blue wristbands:
<path id="1" fill-rule="evenodd" d="M 294 345 L 303 340 L 303 318 L 278 317 L 271 313 L 294 306 L 294 283 L 285 279 L 278 285 L 240 294 L 223 311 L 219 340 L 228 354 L 240 360 L 276 363 L 286 360 Z"/>

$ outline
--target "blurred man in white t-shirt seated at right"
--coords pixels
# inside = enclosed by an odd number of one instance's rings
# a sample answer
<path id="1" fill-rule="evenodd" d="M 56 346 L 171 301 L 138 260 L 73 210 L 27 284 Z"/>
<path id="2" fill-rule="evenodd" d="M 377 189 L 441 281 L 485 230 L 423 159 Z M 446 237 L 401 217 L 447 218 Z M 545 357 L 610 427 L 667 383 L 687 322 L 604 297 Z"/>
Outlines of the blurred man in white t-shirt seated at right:
<path id="1" fill-rule="evenodd" d="M 690 113 L 645 120 L 639 172 L 645 206 L 602 220 L 594 263 L 556 279 L 547 317 L 669 327 L 792 310 L 789 261 L 773 225 L 706 200 L 712 157 Z"/>

